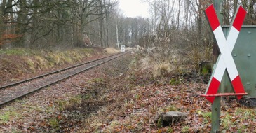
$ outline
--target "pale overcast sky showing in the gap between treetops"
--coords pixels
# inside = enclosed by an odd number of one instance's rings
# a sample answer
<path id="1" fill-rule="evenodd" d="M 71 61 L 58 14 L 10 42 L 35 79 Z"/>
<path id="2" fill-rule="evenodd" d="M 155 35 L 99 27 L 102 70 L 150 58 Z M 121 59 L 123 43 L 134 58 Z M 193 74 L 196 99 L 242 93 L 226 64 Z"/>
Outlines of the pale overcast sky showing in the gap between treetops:
<path id="1" fill-rule="evenodd" d="M 119 8 L 123 10 L 124 15 L 127 17 L 149 17 L 148 4 L 140 0 L 119 0 Z"/>

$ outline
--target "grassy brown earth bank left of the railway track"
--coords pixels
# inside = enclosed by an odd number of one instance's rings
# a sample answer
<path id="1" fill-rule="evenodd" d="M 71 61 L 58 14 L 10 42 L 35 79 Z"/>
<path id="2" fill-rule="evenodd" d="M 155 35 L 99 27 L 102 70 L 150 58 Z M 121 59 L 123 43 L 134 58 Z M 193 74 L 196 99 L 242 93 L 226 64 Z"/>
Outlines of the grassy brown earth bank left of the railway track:
<path id="1" fill-rule="evenodd" d="M 114 52 L 113 48 L 78 48 L 71 50 L 10 49 L 0 52 L 0 85 L 37 76 L 66 66 L 86 62 Z"/>

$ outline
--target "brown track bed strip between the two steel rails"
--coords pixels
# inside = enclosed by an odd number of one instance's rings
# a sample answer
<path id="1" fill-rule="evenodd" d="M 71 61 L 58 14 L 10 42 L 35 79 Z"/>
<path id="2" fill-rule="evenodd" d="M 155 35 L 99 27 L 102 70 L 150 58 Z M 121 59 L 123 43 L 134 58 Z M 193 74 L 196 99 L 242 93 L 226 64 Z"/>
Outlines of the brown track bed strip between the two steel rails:
<path id="1" fill-rule="evenodd" d="M 121 52 L 0 87 L 0 106 L 129 53 Z"/>

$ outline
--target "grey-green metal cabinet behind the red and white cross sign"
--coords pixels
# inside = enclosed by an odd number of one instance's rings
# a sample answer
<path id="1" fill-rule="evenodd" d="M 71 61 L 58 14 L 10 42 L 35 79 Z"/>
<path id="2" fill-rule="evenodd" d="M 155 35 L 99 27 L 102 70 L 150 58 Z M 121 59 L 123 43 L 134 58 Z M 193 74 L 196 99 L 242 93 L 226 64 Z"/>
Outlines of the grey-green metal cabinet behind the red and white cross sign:
<path id="1" fill-rule="evenodd" d="M 224 35 L 229 34 L 229 26 L 222 27 Z M 256 98 L 256 26 L 242 27 L 231 55 L 241 76 L 243 87 L 248 95 L 243 97 Z M 234 92 L 227 72 L 224 73 L 220 92 Z"/>

